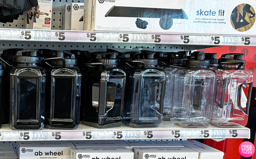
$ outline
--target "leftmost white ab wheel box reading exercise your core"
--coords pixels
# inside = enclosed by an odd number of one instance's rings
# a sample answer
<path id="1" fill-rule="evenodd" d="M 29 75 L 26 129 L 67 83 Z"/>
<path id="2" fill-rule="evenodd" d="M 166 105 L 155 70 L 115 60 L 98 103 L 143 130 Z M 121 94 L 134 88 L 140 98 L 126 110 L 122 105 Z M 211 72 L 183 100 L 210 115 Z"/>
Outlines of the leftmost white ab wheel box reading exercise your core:
<path id="1" fill-rule="evenodd" d="M 71 141 L 19 142 L 19 159 L 42 159 L 42 157 L 70 159 L 71 147 L 74 147 Z"/>

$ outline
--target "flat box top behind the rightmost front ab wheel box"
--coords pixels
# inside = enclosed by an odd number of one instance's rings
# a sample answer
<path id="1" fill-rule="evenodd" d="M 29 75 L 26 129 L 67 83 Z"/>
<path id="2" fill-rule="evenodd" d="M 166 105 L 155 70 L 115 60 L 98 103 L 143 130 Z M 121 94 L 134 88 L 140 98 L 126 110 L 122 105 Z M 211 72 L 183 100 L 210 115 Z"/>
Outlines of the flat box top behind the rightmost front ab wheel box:
<path id="1" fill-rule="evenodd" d="M 176 141 L 125 141 L 130 150 L 134 151 L 136 147 L 184 147 Z"/>

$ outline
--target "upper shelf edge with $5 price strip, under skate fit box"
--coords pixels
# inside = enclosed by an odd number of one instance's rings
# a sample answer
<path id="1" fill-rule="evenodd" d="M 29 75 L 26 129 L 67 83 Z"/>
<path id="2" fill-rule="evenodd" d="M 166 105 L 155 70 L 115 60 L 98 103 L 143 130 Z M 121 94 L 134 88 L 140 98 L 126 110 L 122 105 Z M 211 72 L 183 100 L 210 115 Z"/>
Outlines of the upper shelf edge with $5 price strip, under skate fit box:
<path id="1" fill-rule="evenodd" d="M 0 29 L 0 40 L 256 46 L 256 36 Z"/>

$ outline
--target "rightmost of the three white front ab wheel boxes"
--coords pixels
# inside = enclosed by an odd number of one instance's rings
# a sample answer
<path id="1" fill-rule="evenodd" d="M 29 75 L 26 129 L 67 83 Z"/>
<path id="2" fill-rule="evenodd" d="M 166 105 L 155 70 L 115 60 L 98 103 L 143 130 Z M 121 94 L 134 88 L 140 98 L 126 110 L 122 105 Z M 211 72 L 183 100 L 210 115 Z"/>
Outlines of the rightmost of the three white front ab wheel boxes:
<path id="1" fill-rule="evenodd" d="M 137 147 L 133 159 L 198 159 L 199 153 L 188 147 Z"/>

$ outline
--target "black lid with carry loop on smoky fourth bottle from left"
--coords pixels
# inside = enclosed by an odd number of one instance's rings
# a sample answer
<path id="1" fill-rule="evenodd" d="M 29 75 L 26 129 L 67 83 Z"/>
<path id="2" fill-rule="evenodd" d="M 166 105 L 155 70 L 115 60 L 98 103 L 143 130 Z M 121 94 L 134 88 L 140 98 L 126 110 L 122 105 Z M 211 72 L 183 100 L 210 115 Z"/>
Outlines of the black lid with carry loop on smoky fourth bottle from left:
<path id="1" fill-rule="evenodd" d="M 149 50 L 141 50 L 144 58 L 139 59 L 133 59 L 134 61 L 141 61 L 144 62 L 145 66 L 157 66 L 158 65 L 158 59 L 154 59 L 154 55 L 156 52 L 149 51 Z"/>

